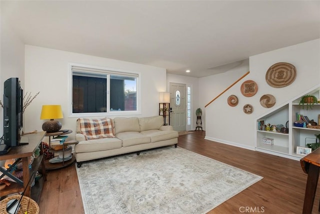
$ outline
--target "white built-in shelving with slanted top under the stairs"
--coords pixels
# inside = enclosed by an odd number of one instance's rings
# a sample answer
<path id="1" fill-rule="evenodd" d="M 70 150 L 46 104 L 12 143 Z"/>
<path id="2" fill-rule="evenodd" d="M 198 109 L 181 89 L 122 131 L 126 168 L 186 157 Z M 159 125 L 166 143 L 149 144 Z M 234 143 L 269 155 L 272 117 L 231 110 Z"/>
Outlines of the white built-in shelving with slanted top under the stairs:
<path id="1" fill-rule="evenodd" d="M 302 95 L 294 97 L 292 100 L 283 103 L 276 109 L 266 112 L 264 115 L 256 118 L 256 123 L 263 120 L 264 124 L 288 124 L 288 133 L 258 130 L 257 125 L 255 134 L 256 150 L 296 160 L 299 160 L 304 156 L 296 153 L 296 147 L 305 147 L 306 139 L 310 138 L 312 140 L 312 137 L 314 138 L 315 134 L 320 133 L 320 129 L 293 126 L 293 122 L 296 121 L 296 114 L 306 115 L 309 119 L 313 119 L 317 123 L 319 122 L 320 103 L 314 103 L 311 109 L 309 107 L 306 110 L 305 106 L 302 107 L 302 105 L 299 104 L 299 101 L 304 94 L 312 94 L 319 98 L 320 85 L 305 91 Z M 264 144 L 262 142 L 264 137 L 272 138 L 273 144 Z"/>

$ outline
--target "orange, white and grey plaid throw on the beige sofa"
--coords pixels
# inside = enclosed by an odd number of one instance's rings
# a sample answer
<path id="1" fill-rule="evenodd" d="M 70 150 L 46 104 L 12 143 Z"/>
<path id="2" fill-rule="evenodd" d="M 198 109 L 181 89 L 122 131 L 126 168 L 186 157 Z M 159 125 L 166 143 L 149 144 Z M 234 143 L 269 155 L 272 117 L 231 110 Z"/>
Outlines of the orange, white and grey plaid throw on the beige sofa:
<path id="1" fill-rule="evenodd" d="M 85 139 L 98 139 L 104 137 L 115 137 L 113 122 L 110 118 L 90 119 L 78 118 L 80 122 L 80 131 Z"/>

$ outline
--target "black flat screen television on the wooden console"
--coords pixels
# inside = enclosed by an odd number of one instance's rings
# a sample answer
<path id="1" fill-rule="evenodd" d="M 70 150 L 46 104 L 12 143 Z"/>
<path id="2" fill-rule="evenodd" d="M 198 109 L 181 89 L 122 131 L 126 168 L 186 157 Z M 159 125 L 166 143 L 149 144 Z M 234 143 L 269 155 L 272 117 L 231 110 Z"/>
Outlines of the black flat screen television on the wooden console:
<path id="1" fill-rule="evenodd" d="M 4 81 L 3 88 L 3 141 L 1 153 L 18 146 L 22 135 L 23 90 L 16 77 Z"/>

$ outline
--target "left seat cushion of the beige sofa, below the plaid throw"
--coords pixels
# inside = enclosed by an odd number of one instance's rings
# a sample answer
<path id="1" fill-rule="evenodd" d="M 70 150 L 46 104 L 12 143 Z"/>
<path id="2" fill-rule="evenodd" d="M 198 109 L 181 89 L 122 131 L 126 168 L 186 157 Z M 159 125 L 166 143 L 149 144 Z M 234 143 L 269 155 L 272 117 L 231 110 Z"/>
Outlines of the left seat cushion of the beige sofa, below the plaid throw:
<path id="1" fill-rule="evenodd" d="M 89 139 L 80 141 L 74 146 L 74 151 L 79 152 L 90 152 L 90 151 L 103 151 L 114 148 L 121 148 L 122 141 L 118 138 L 100 138 L 100 139 Z"/>

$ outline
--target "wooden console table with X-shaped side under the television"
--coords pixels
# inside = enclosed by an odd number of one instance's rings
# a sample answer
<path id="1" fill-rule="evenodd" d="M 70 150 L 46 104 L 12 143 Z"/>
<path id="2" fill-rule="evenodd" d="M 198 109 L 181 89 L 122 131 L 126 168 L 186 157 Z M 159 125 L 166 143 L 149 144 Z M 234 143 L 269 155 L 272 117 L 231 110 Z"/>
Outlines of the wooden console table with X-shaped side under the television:
<path id="1" fill-rule="evenodd" d="M 34 151 L 39 147 L 44 135 L 45 135 L 45 131 L 26 134 L 25 136 L 28 137 L 28 144 L 11 147 L 11 149 L 6 154 L 0 155 L 0 160 L 16 159 L 16 158 L 22 159 L 22 170 L 23 170 L 23 180 L 20 180 L 19 178 L 10 174 L 10 172 L 0 167 L 0 171 L 3 174 L 11 177 L 16 181 L 15 183 L 12 182 L 9 186 L 1 185 L 0 196 L 5 196 L 7 194 L 15 193 L 15 192 L 21 192 L 25 188 L 25 192 L 24 192 L 25 196 L 31 197 L 35 201 L 39 201 L 42 186 L 43 186 L 43 181 L 46 179 L 42 146 L 40 146 L 40 155 L 34 158 L 31 164 L 31 169 L 29 169 L 28 157 L 32 156 Z M 31 191 L 30 185 L 32 181 L 30 181 L 28 186 L 26 185 L 29 181 L 30 175 L 33 173 L 33 171 L 36 172 L 40 165 L 42 168 L 41 170 L 42 177 L 32 187 L 32 194 L 30 194 L 30 191 Z"/>

